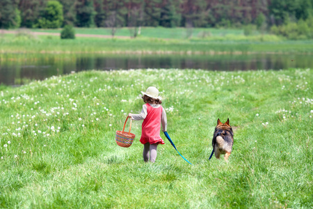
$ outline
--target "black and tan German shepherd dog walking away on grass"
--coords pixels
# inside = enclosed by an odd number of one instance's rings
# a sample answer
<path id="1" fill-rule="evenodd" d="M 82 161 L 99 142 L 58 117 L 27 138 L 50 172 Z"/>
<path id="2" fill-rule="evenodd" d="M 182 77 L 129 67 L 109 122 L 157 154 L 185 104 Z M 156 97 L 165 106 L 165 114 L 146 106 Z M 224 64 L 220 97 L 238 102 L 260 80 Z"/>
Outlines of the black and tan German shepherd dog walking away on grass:
<path id="1" fill-rule="evenodd" d="M 230 126 L 230 120 L 227 118 L 225 123 L 220 122 L 218 118 L 218 124 L 215 127 L 212 146 L 215 153 L 215 157 L 220 159 L 220 154 L 225 155 L 225 161 L 228 161 L 230 153 L 232 153 L 232 145 L 234 144 L 234 132 Z"/>

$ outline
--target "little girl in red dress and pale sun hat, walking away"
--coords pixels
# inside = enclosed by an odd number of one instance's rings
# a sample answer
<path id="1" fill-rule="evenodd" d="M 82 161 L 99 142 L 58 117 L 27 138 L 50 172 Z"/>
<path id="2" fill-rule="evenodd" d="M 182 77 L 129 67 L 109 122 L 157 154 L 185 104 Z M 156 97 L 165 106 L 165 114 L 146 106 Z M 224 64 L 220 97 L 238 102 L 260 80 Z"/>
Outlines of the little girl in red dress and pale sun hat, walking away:
<path id="1" fill-rule="evenodd" d="M 141 144 L 143 144 L 143 160 L 145 162 L 155 162 L 157 158 L 158 144 L 164 144 L 160 137 L 160 128 L 162 123 L 162 130 L 166 132 L 167 120 L 166 111 L 161 106 L 162 101 L 159 97 L 159 90 L 153 86 L 147 88 L 143 93 L 143 109 L 140 114 L 128 114 L 129 118 L 134 121 L 143 120 L 141 131 Z"/>

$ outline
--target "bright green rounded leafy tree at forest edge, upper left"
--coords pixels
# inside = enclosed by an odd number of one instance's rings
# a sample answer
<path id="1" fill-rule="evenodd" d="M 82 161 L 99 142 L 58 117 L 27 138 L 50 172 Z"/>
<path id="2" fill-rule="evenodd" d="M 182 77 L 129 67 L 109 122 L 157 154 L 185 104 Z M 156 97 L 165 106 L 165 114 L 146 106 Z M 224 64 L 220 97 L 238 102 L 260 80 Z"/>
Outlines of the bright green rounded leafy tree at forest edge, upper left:
<path id="1" fill-rule="evenodd" d="M 63 6 L 58 1 L 48 1 L 38 26 L 43 29 L 57 29 L 63 24 Z"/>

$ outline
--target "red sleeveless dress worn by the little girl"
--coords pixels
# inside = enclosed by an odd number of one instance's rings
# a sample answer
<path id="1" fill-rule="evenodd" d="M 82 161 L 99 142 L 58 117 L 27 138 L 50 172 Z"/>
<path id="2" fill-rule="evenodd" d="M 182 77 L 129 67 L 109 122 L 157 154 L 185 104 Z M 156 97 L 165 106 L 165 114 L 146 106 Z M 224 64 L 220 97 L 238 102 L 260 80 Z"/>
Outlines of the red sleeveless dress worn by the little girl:
<path id="1" fill-rule="evenodd" d="M 163 139 L 160 137 L 162 106 L 154 108 L 148 103 L 145 105 L 147 106 L 147 116 L 143 120 L 141 144 L 147 142 L 150 144 L 164 144 Z"/>

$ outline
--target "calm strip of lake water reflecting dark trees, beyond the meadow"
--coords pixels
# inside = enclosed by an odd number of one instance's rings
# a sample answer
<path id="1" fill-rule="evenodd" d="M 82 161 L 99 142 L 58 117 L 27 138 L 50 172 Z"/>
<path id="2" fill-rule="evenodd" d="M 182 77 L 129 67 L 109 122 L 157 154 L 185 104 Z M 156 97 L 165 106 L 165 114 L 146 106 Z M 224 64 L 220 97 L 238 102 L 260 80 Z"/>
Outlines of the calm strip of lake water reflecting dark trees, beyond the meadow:
<path id="1" fill-rule="evenodd" d="M 313 68 L 313 56 L 303 54 L 249 55 L 40 55 L 0 60 L 0 84 L 19 86 L 32 80 L 83 70 L 177 68 L 203 70 L 280 70 Z"/>

